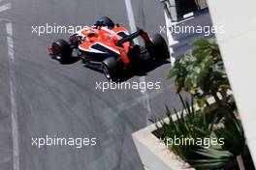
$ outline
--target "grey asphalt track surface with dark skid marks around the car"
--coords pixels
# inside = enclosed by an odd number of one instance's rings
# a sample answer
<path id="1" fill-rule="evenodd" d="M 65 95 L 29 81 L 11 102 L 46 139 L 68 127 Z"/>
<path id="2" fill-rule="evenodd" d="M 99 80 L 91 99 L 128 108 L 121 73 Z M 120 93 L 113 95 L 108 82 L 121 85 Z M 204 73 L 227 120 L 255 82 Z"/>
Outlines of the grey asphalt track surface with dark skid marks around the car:
<path id="1" fill-rule="evenodd" d="M 131 133 L 146 126 L 143 94 L 138 90 L 105 93 L 95 82 L 106 78 L 80 62 L 60 65 L 48 58 L 47 47 L 64 34 L 32 34 L 31 26 L 92 25 L 103 15 L 129 28 L 123 0 L 18 0 L 1 12 L 13 24 L 16 114 L 20 170 L 143 170 Z M 149 34 L 165 24 L 157 0 L 133 0 L 138 26 Z M 13 169 L 12 104 L 6 21 L 0 21 L 0 170 Z M 170 64 L 145 75 L 160 81 L 160 90 L 147 91 L 151 116 L 163 117 L 165 104 L 177 106 L 173 83 L 165 80 Z M 134 76 L 128 81 L 140 81 Z M 32 137 L 97 138 L 96 146 L 31 146 Z"/>

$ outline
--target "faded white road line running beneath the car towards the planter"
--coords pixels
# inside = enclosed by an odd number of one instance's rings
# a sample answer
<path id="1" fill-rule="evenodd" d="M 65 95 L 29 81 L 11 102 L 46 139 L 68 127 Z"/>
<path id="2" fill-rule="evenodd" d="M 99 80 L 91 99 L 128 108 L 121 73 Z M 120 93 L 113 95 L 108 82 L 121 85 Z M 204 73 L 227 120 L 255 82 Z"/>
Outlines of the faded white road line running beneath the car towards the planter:
<path id="1" fill-rule="evenodd" d="M 136 32 L 137 27 L 136 27 L 136 22 L 135 22 L 135 17 L 134 17 L 134 13 L 133 13 L 131 0 L 124 0 L 124 3 L 125 3 L 127 15 L 128 15 L 131 32 Z M 135 39 L 134 42 L 139 44 L 138 39 Z M 145 82 L 144 76 L 140 77 L 140 81 Z M 144 109 L 145 109 L 144 113 L 145 113 L 145 118 L 146 118 L 146 124 L 149 125 L 150 124 L 149 119 L 151 117 L 151 107 L 150 107 L 149 96 L 146 91 L 142 92 L 142 94 L 143 94 L 143 104 L 144 104 Z"/>

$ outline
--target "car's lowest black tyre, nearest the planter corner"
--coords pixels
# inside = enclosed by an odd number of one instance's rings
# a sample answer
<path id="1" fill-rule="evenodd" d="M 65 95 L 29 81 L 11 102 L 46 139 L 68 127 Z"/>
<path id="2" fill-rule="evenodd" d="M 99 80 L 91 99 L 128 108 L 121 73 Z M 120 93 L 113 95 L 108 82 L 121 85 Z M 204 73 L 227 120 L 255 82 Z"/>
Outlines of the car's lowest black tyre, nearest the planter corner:
<path id="1" fill-rule="evenodd" d="M 102 62 L 102 71 L 108 80 L 118 81 L 118 65 L 113 57 L 109 57 Z"/>

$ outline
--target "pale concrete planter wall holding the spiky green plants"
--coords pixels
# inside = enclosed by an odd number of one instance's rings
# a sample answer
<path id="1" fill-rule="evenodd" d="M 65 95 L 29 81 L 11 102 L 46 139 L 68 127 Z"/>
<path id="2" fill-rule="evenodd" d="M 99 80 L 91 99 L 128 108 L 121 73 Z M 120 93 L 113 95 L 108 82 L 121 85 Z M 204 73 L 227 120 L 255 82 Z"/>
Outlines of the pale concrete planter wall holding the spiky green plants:
<path id="1" fill-rule="evenodd" d="M 176 120 L 176 115 L 173 119 Z M 180 158 L 170 152 L 164 144 L 160 144 L 159 139 L 152 133 L 154 130 L 155 125 L 151 125 L 132 135 L 144 170 L 195 170 L 188 168 L 187 163 L 180 161 Z"/>

